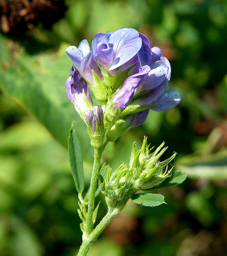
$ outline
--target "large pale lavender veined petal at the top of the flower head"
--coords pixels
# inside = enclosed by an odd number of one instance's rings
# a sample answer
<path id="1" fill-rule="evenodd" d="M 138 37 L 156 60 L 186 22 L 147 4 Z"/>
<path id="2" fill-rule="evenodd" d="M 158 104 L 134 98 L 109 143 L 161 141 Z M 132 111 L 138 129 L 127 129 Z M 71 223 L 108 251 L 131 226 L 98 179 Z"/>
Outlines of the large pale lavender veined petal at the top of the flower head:
<path id="1" fill-rule="evenodd" d="M 120 67 L 137 54 L 142 46 L 142 39 L 133 28 L 120 28 L 109 38 L 109 46 L 114 49 L 114 61 L 109 70 Z"/>

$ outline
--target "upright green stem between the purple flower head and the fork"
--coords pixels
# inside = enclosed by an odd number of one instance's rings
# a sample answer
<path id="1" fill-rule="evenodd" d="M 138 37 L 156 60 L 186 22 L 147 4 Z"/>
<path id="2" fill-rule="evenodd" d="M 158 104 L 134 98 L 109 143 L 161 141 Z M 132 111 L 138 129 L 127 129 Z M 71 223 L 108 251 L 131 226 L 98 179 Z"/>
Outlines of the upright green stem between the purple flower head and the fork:
<path id="1" fill-rule="evenodd" d="M 97 181 L 98 177 L 97 174 L 99 172 L 99 166 L 100 166 L 100 160 L 102 155 L 102 148 L 95 148 L 94 149 L 94 165 L 91 175 L 91 184 L 90 184 L 90 190 L 89 190 L 89 200 L 88 200 L 88 206 L 87 206 L 87 217 L 85 222 L 85 237 L 88 237 L 92 230 L 93 230 L 93 212 L 95 208 L 95 191 L 97 189 Z M 84 239 L 84 237 L 83 237 Z"/>

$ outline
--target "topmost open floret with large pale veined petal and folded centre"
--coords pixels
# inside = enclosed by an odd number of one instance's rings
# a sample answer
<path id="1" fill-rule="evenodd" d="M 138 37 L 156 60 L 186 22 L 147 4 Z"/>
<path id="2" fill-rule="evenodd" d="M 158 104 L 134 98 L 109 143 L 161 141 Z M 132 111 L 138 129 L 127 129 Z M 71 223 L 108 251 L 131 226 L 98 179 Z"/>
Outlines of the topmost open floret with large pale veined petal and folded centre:
<path id="1" fill-rule="evenodd" d="M 120 28 L 114 32 L 95 34 L 91 51 L 93 58 L 104 70 L 113 73 L 132 57 L 142 46 L 142 39 L 133 28 Z"/>

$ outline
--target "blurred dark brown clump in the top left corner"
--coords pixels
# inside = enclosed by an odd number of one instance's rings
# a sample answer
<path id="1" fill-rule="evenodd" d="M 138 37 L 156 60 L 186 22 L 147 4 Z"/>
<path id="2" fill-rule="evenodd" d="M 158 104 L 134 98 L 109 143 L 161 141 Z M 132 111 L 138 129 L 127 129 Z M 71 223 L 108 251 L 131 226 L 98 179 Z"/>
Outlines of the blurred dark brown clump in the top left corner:
<path id="1" fill-rule="evenodd" d="M 45 29 L 63 17 L 64 0 L 0 0 L 0 29 L 18 35 L 42 24 Z"/>

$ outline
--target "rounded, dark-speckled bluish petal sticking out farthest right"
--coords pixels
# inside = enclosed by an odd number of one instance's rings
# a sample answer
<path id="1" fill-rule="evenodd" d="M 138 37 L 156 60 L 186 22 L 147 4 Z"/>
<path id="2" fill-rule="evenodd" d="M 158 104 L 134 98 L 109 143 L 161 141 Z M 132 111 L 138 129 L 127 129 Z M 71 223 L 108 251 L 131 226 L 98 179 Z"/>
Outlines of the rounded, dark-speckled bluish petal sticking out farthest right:
<path id="1" fill-rule="evenodd" d="M 168 88 L 155 102 L 154 106 L 150 109 L 158 112 L 163 112 L 177 106 L 180 103 L 181 96 L 180 92 L 176 91 L 174 88 Z"/>

